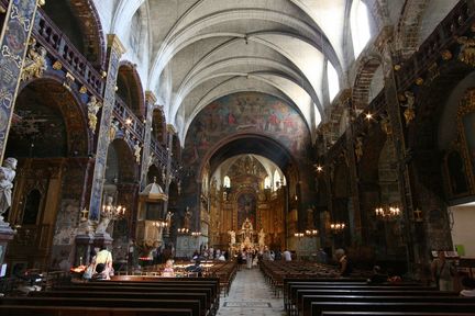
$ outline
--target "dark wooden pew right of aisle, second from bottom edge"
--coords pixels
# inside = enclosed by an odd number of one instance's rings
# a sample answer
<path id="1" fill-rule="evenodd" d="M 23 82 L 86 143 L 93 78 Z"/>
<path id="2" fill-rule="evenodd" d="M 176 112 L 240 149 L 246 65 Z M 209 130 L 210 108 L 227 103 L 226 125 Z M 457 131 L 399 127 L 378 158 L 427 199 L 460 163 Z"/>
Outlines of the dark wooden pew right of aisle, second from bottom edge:
<path id="1" fill-rule="evenodd" d="M 430 303 L 427 302 L 312 302 L 312 316 L 321 316 L 323 312 L 426 312 L 426 313 L 472 313 L 474 303 Z M 380 315 L 380 314 L 376 314 Z"/>

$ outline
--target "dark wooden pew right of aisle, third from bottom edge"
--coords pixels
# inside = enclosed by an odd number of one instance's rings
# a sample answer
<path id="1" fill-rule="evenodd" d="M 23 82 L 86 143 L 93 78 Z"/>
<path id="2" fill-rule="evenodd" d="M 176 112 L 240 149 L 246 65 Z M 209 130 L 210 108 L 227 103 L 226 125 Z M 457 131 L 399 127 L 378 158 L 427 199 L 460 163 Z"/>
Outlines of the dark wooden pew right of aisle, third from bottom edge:
<path id="1" fill-rule="evenodd" d="M 300 305 L 302 312 L 299 315 L 310 316 L 311 306 L 313 303 L 319 302 L 333 302 L 333 303 L 423 303 L 432 305 L 432 303 L 445 303 L 445 304 L 465 304 L 472 303 L 475 308 L 475 298 L 460 297 L 460 296 L 368 296 L 368 295 L 303 295 L 302 305 Z M 369 309 L 371 311 L 371 309 Z M 474 309 L 475 311 L 475 309 Z"/>

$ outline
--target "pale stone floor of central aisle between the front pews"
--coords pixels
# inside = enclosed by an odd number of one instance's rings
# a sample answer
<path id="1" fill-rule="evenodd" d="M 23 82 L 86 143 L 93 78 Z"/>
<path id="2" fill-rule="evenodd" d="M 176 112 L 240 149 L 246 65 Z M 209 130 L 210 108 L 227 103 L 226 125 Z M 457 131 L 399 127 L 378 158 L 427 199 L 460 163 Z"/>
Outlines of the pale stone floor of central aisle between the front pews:
<path id="1" fill-rule="evenodd" d="M 258 268 L 242 269 L 232 282 L 229 296 L 221 297 L 220 316 L 286 315 L 284 298 L 276 298 Z"/>

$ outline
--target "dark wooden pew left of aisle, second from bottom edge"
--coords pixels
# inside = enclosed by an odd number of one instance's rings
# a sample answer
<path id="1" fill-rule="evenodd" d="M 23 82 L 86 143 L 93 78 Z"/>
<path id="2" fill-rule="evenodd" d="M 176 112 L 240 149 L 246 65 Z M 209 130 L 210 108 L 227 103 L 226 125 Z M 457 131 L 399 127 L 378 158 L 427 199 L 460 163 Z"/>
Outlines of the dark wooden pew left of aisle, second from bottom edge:
<path id="1" fill-rule="evenodd" d="M 128 298 L 91 298 L 91 297 L 3 297 L 0 306 L 70 306 L 70 307 L 126 307 L 126 308 L 169 308 L 191 309 L 192 316 L 201 316 L 198 300 L 128 300 Z"/>

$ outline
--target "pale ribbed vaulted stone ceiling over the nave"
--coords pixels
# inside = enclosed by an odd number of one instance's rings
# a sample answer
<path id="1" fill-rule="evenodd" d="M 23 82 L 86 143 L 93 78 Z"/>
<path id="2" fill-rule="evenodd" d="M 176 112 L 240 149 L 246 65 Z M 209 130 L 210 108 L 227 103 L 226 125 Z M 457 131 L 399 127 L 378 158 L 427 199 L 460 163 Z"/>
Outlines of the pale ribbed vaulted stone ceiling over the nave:
<path id="1" fill-rule="evenodd" d="M 410 9 L 416 4 L 407 3 L 418 1 L 423 5 L 416 14 Z M 201 109 L 239 91 L 295 104 L 314 131 L 330 104 L 327 67 L 336 70 L 340 87 L 351 86 L 352 32 L 357 32 L 351 24 L 362 2 L 369 10 L 386 5 L 383 13 L 369 12 L 373 29 L 378 23 L 404 29 L 398 19 L 408 15 L 406 7 L 420 20 L 429 5 L 421 0 L 95 0 L 104 29 L 132 47 L 125 58 L 140 61 L 144 87 L 157 94 L 181 139 Z"/>

